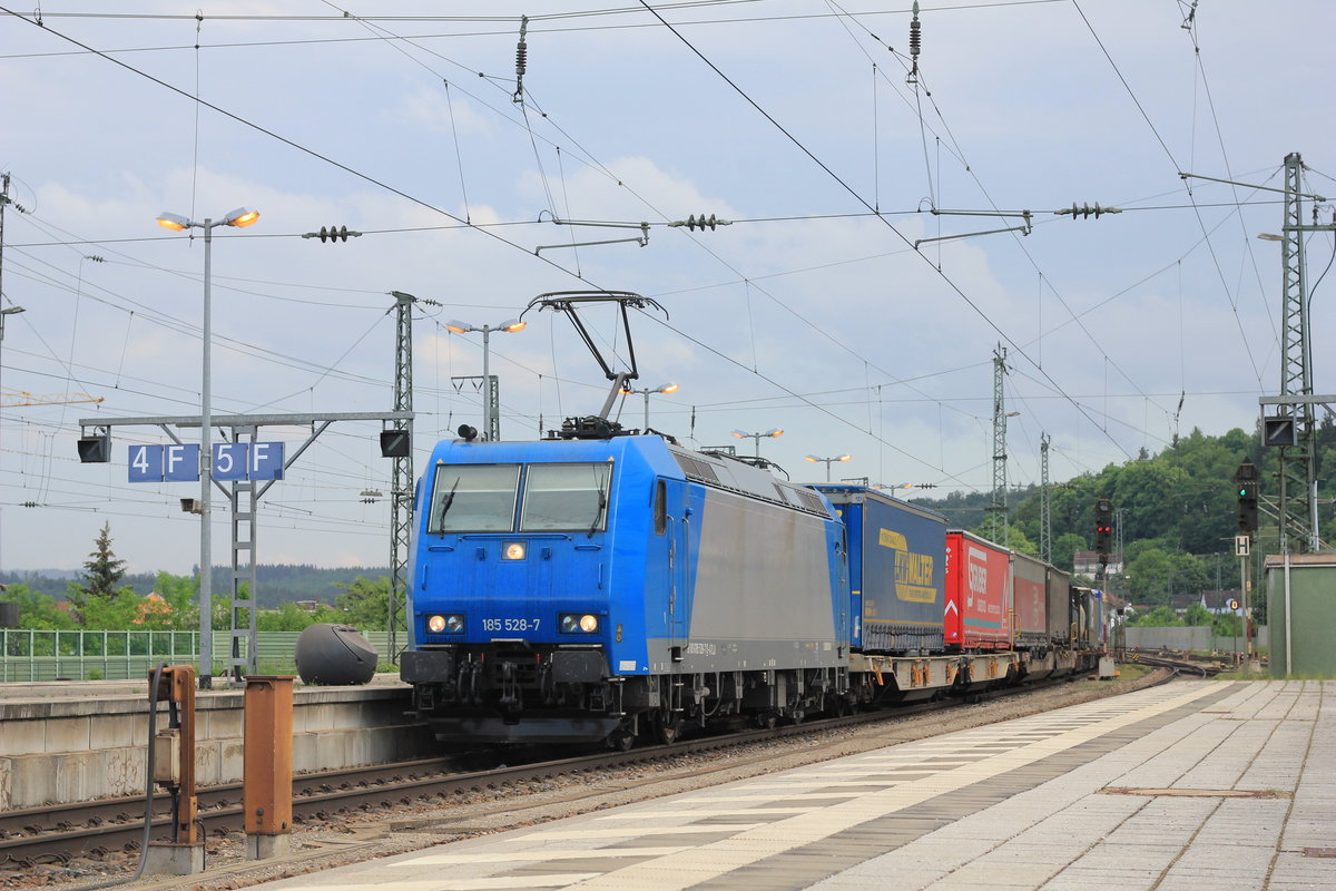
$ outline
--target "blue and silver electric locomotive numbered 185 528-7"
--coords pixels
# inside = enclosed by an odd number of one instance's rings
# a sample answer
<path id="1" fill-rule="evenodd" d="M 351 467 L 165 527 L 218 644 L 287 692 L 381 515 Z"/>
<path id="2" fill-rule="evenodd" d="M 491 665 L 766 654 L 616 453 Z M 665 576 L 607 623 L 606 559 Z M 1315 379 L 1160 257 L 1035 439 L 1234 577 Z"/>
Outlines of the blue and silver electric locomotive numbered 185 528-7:
<path id="1" fill-rule="evenodd" d="M 660 435 L 441 442 L 401 676 L 441 740 L 671 741 L 848 692 L 844 537 L 818 492 Z"/>

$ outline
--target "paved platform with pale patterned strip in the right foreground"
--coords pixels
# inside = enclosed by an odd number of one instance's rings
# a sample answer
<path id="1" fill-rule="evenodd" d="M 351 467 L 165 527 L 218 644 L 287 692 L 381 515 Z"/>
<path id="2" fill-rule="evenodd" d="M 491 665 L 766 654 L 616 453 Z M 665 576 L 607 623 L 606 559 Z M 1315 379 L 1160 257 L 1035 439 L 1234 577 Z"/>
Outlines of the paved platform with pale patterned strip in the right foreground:
<path id="1" fill-rule="evenodd" d="M 1336 681 L 1174 681 L 257 887 L 1336 890 Z"/>

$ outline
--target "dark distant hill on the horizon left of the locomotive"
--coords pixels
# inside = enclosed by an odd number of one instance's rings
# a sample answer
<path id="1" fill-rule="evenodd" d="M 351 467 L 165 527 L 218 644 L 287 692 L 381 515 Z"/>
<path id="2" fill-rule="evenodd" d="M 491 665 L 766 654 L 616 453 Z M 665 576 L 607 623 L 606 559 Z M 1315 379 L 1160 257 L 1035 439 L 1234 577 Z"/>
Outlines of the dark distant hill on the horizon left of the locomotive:
<path id="1" fill-rule="evenodd" d="M 214 568 L 214 593 L 227 593 L 227 578 L 231 566 Z M 261 564 L 257 568 L 259 577 L 259 604 L 265 609 L 274 609 L 286 602 L 298 600 L 317 600 L 322 604 L 333 604 L 342 592 L 339 584 L 350 584 L 358 576 L 363 578 L 379 578 L 389 576 L 389 566 L 349 566 L 341 569 L 321 569 L 319 566 L 299 564 Z M 194 576 L 194 573 L 191 573 Z M 11 569 L 0 572 L 0 584 L 12 585 L 23 582 L 33 590 L 49 594 L 56 600 L 65 598 L 65 589 L 69 582 L 79 581 L 83 570 L 71 569 Z M 154 589 L 156 576 L 127 574 L 123 585 L 130 585 L 136 594 L 148 594 Z M 3 600 L 3 597 L 0 597 Z"/>

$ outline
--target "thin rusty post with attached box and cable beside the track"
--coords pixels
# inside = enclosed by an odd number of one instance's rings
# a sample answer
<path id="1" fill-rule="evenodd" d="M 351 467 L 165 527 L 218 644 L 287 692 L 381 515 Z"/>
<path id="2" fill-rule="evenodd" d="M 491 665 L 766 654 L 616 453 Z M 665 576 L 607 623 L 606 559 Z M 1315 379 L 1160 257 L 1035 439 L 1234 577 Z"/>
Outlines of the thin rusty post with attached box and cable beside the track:
<path id="1" fill-rule="evenodd" d="M 154 673 L 148 673 L 152 684 Z M 146 872 L 192 875 L 204 868 L 204 842 L 196 819 L 195 796 L 195 669 L 191 665 L 163 668 L 158 684 L 159 703 L 175 705 L 175 721 L 163 729 L 154 727 L 154 781 L 172 796 L 171 842 L 151 842 Z"/>

